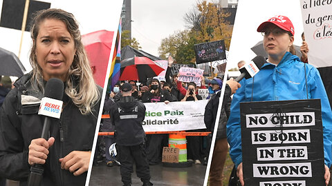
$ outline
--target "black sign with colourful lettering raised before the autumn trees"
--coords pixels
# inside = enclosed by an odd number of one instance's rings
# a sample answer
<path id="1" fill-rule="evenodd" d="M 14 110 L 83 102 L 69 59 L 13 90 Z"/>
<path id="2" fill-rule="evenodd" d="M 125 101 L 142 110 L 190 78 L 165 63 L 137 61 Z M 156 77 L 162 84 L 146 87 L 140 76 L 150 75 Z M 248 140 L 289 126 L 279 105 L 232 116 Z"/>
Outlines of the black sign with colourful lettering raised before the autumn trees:
<path id="1" fill-rule="evenodd" d="M 223 40 L 196 44 L 194 50 L 197 64 L 226 59 Z"/>

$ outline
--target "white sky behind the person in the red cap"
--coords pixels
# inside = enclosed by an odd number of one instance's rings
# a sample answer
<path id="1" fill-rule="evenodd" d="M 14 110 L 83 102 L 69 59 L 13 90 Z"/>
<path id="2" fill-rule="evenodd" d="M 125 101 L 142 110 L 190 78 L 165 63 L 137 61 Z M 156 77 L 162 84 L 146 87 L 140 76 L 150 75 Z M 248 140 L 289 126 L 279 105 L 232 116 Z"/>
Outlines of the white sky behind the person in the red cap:
<path id="1" fill-rule="evenodd" d="M 240 0 L 235 18 L 228 68 L 237 67 L 241 60 L 250 61 L 256 54 L 250 50 L 263 40 L 258 26 L 275 15 L 284 15 L 291 19 L 295 30 L 295 45 L 302 45 L 302 14 L 299 0 Z"/>

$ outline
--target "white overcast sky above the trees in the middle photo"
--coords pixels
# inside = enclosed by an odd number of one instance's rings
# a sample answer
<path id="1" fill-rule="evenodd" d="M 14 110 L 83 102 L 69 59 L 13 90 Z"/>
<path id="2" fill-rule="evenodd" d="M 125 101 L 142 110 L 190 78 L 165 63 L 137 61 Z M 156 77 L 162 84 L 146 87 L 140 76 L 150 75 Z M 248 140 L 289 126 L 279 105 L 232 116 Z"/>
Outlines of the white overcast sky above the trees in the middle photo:
<path id="1" fill-rule="evenodd" d="M 196 0 L 132 0 L 131 37 L 135 37 L 142 50 L 159 56 L 160 41 L 177 30 L 185 30 L 183 19 Z"/>

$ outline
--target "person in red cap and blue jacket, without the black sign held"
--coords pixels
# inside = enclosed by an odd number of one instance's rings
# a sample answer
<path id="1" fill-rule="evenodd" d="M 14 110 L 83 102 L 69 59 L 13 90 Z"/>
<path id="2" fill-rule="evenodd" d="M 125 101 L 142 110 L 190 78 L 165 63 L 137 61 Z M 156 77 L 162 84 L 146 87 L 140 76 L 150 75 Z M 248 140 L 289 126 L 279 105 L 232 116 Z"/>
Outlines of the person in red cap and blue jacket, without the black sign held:
<path id="1" fill-rule="evenodd" d="M 332 113 L 320 74 L 312 65 L 302 63 L 297 56 L 289 52 L 293 48 L 295 32 L 293 23 L 288 17 L 272 17 L 261 23 L 257 32 L 261 32 L 264 36 L 264 49 L 268 53 L 268 59 L 255 77 L 240 82 L 241 87 L 234 94 L 227 124 L 230 156 L 237 167 L 240 183 L 244 185 L 240 103 L 320 99 L 324 128 L 324 179 L 327 185 L 330 177 L 329 167 L 331 167 Z"/>

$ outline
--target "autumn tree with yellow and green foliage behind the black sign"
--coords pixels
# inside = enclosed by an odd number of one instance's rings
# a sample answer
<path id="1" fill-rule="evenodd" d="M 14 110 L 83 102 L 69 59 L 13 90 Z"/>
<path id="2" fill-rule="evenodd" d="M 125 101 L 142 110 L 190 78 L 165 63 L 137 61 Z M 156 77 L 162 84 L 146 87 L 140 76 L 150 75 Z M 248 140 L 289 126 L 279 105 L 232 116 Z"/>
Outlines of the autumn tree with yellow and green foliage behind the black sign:
<path id="1" fill-rule="evenodd" d="M 177 31 L 161 41 L 158 48 L 160 57 L 174 56 L 176 63 L 194 63 L 194 45 L 210 41 L 225 41 L 226 50 L 230 47 L 232 26 L 225 21 L 229 17 L 219 3 L 201 1 L 193 10 L 185 14 L 188 30 Z"/>

